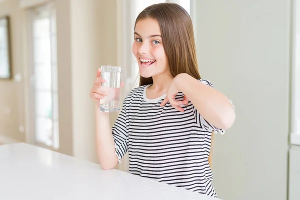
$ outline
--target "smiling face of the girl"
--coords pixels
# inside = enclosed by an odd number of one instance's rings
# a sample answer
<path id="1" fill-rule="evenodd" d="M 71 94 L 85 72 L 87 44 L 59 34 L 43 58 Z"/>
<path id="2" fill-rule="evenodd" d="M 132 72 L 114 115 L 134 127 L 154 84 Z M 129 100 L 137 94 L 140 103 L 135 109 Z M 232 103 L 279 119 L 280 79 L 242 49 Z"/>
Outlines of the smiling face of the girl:
<path id="1" fill-rule="evenodd" d="M 145 18 L 137 21 L 132 52 L 142 77 L 170 73 L 162 46 L 160 27 L 155 19 Z"/>

